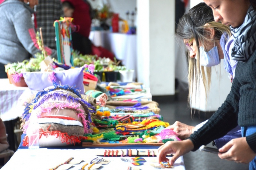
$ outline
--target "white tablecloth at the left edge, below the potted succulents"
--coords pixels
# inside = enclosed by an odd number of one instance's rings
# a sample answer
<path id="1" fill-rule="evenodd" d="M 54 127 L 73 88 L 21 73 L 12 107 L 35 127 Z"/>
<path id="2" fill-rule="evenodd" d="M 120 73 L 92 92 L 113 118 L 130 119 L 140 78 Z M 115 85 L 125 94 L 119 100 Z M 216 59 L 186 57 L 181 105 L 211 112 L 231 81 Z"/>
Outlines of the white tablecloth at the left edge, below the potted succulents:
<path id="1" fill-rule="evenodd" d="M 22 93 L 28 87 L 16 87 L 9 83 L 8 79 L 0 79 L 0 117 L 3 121 L 20 117 L 23 107 L 19 101 Z"/>

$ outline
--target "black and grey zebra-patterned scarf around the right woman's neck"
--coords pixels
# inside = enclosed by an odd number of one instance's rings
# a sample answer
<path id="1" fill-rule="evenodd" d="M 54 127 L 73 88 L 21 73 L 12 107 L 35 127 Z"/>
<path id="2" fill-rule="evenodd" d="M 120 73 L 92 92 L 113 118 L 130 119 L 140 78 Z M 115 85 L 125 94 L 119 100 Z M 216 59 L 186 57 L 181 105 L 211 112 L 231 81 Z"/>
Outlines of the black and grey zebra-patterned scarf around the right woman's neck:
<path id="1" fill-rule="evenodd" d="M 234 47 L 231 58 L 245 62 L 256 49 L 256 11 L 250 6 L 247 11 L 244 23 L 234 28 L 230 26 L 234 35 Z"/>

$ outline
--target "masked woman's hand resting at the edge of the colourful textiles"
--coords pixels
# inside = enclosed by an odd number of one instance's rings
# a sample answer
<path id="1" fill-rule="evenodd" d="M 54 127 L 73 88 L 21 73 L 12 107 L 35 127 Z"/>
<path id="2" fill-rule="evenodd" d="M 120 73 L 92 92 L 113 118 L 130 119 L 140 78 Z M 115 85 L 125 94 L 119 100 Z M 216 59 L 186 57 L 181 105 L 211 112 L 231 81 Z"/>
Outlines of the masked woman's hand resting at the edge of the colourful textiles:
<path id="1" fill-rule="evenodd" d="M 173 130 L 174 132 L 176 132 L 178 134 L 178 137 L 181 140 L 184 140 L 184 139 L 188 138 L 194 132 L 195 127 L 189 126 L 187 124 L 183 124 L 179 121 L 176 121 L 174 124 L 166 127 L 165 129 Z"/>

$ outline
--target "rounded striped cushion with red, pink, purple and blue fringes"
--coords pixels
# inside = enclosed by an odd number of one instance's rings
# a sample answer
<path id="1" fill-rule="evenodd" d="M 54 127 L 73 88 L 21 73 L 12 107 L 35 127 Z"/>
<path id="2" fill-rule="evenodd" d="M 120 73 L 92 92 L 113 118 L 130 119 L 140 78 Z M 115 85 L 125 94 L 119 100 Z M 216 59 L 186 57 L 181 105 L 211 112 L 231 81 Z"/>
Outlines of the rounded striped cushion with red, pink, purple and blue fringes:
<path id="1" fill-rule="evenodd" d="M 68 85 L 45 88 L 26 105 L 22 114 L 24 133 L 29 127 L 30 116 L 38 117 L 40 126 L 40 146 L 63 146 L 80 143 L 84 133 L 92 133 L 91 115 L 95 108 L 84 95 Z M 88 100 L 87 100 L 88 99 Z M 27 138 L 23 145 L 26 146 Z"/>

